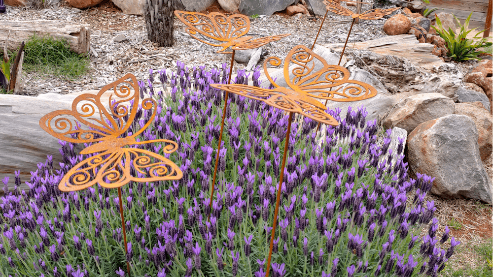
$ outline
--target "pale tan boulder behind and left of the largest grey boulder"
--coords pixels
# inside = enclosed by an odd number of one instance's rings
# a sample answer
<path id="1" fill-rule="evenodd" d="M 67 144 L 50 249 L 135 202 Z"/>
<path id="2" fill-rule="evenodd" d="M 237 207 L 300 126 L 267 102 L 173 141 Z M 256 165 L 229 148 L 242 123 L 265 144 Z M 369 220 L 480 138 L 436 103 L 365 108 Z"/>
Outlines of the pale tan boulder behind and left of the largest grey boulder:
<path id="1" fill-rule="evenodd" d="M 419 124 L 454 113 L 452 98 L 440 93 L 420 93 L 404 98 L 397 103 L 384 118 L 386 128 L 399 127 L 408 133 Z"/>

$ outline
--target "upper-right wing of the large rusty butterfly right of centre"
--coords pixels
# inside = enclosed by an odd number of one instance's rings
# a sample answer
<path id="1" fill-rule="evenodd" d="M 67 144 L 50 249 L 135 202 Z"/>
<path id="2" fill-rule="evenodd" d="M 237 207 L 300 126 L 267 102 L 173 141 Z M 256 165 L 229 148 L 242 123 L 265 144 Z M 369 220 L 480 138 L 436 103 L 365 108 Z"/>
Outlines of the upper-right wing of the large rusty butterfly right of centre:
<path id="1" fill-rule="evenodd" d="M 270 58 L 266 62 L 269 60 Z M 328 64 L 304 45 L 294 47 L 284 61 L 284 79 L 287 85 L 292 90 L 306 92 L 311 97 L 350 102 L 377 95 L 375 88 L 363 82 L 350 80 L 350 77 L 351 74 L 346 68 Z"/>

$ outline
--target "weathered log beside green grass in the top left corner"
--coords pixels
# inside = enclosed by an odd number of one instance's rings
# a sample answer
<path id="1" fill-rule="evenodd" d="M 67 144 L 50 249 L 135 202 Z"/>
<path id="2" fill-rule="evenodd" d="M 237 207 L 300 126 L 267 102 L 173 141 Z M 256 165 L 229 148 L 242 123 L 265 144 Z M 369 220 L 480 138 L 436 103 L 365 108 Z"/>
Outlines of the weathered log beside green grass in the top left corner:
<path id="1" fill-rule="evenodd" d="M 34 21 L 0 21 L 0 47 L 3 48 L 8 31 L 8 49 L 17 49 L 22 41 L 36 35 L 50 35 L 64 38 L 72 51 L 82 54 L 89 52 L 90 31 L 89 24 L 76 24 L 58 20 Z"/>

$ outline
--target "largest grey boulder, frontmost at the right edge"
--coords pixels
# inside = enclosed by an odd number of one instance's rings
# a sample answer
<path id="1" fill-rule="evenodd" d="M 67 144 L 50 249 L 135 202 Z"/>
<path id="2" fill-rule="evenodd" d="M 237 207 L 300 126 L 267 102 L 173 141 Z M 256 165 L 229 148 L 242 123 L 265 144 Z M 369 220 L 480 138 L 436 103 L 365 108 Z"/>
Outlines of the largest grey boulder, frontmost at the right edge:
<path id="1" fill-rule="evenodd" d="M 492 182 L 478 149 L 478 130 L 467 116 L 448 115 L 421 123 L 408 136 L 414 173 L 434 177 L 431 193 L 493 203 Z"/>

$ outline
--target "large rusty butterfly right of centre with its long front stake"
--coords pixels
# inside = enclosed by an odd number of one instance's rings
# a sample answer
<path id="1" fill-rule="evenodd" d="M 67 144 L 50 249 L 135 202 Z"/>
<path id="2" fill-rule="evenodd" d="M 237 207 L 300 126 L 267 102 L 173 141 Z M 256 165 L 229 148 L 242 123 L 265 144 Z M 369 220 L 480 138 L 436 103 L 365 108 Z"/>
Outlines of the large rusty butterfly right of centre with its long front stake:
<path id="1" fill-rule="evenodd" d="M 299 113 L 319 123 L 338 125 L 337 121 L 325 112 L 326 107 L 317 99 L 342 102 L 358 101 L 377 95 L 377 91 L 372 86 L 363 82 L 349 80 L 350 73 L 346 68 L 327 64 L 322 57 L 303 45 L 295 46 L 287 54 L 284 61 L 283 74 L 289 88 L 280 87 L 274 82 L 267 71 L 267 62 L 271 65 L 279 66 L 282 61 L 277 57 L 270 57 L 264 62 L 264 73 L 274 86 L 272 90 L 241 84 L 212 84 L 211 87 L 260 100 L 270 106 L 289 112 L 276 208 L 274 210 L 271 231 L 271 244 L 267 258 L 266 277 L 269 277 L 293 113 Z M 293 64 L 291 68 L 289 67 L 290 63 Z M 321 68 L 316 70 L 316 67 L 319 68 L 320 66 Z M 328 89 L 333 90 L 328 91 Z"/>

